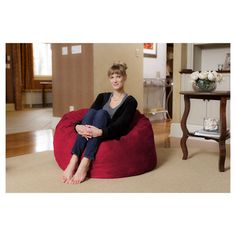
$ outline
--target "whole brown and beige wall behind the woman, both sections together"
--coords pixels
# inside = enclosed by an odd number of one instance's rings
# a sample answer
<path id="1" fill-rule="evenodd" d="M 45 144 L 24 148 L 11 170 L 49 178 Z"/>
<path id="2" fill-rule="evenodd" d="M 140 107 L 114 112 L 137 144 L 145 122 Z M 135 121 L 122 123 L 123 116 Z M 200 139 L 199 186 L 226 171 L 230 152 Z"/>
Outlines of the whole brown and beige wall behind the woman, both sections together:
<path id="1" fill-rule="evenodd" d="M 115 61 L 127 63 L 125 90 L 143 111 L 143 44 L 79 44 L 82 53 L 72 55 L 74 44 L 52 45 L 53 115 L 62 116 L 69 106 L 89 107 L 98 93 L 111 91 L 107 71 Z M 62 55 L 68 47 L 68 55 Z"/>

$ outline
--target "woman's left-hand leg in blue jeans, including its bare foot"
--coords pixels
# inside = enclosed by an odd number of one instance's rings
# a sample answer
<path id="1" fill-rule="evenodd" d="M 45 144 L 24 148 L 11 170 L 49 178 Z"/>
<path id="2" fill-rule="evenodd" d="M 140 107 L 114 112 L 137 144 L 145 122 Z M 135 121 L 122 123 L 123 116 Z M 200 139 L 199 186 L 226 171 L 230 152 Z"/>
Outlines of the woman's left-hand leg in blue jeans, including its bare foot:
<path id="1" fill-rule="evenodd" d="M 84 118 L 82 120 L 82 124 L 83 125 L 86 125 L 86 124 L 92 125 L 96 112 L 97 112 L 96 110 L 90 109 L 86 113 L 86 115 L 84 116 Z M 64 183 L 69 183 L 70 179 L 73 177 L 74 173 L 76 172 L 76 170 L 78 168 L 78 163 L 79 163 L 78 158 L 81 157 L 81 155 L 84 151 L 84 148 L 86 146 L 86 143 L 87 143 L 86 138 L 84 138 L 78 134 L 75 144 L 74 144 L 72 151 L 71 151 L 72 157 L 70 159 L 68 166 L 66 167 L 66 169 L 63 172 L 62 181 Z"/>

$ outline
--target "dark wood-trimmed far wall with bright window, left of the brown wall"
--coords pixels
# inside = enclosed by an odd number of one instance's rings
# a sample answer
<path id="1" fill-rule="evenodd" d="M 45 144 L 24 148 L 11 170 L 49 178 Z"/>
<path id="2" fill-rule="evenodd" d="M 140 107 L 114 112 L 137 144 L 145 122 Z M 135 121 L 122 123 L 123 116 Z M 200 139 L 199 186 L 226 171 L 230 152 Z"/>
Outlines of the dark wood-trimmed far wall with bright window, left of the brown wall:
<path id="1" fill-rule="evenodd" d="M 52 107 L 51 48 L 49 44 L 41 43 L 47 45 L 44 48 L 39 45 L 6 44 L 7 111 Z"/>

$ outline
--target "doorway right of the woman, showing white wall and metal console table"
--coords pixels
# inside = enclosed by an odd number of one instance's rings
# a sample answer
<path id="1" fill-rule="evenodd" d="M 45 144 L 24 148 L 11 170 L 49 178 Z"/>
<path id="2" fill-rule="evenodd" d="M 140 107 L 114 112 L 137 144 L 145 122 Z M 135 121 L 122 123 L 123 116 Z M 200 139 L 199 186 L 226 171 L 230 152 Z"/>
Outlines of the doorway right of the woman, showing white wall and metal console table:
<path id="1" fill-rule="evenodd" d="M 173 48 L 157 43 L 155 56 L 144 54 L 144 113 L 151 121 L 172 118 Z"/>

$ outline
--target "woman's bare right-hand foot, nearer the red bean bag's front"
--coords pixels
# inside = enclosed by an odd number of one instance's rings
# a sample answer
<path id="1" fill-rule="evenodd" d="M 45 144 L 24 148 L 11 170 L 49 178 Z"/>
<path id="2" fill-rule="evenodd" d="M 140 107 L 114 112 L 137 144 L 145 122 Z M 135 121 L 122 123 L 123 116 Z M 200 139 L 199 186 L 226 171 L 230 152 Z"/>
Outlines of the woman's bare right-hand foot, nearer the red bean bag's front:
<path id="1" fill-rule="evenodd" d="M 91 160 L 89 160 L 87 157 L 84 157 L 75 172 L 74 176 L 70 180 L 70 184 L 80 184 L 82 183 L 87 176 L 87 172 L 89 170 L 89 165 L 90 165 Z"/>

